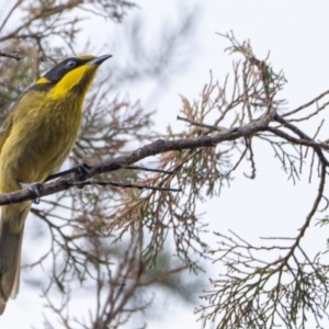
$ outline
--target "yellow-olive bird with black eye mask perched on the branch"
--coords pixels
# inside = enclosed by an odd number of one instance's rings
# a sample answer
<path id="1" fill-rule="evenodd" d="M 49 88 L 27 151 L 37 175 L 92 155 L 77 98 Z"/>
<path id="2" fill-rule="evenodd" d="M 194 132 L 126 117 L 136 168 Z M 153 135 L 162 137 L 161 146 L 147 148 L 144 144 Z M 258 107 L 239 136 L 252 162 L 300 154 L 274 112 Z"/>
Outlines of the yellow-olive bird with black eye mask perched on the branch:
<path id="1" fill-rule="evenodd" d="M 12 106 L 0 134 L 0 193 L 42 183 L 60 170 L 78 138 L 83 100 L 112 55 L 69 57 L 49 69 Z M 21 248 L 32 201 L 1 207 L 0 315 L 20 287 Z"/>

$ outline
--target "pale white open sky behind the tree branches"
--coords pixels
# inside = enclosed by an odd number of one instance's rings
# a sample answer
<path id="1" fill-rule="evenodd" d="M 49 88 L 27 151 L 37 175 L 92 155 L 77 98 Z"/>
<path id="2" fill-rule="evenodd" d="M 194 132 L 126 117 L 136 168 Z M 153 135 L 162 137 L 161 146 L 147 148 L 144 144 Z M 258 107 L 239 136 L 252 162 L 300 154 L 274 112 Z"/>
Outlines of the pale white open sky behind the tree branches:
<path id="1" fill-rule="evenodd" d="M 143 15 L 149 30 L 161 22 L 170 22 L 172 13 L 178 14 L 182 7 L 179 1 L 144 0 L 138 1 L 141 10 L 134 14 Z M 185 5 L 196 2 L 200 5 L 200 23 L 194 38 L 191 39 L 195 54 L 190 58 L 189 68 L 177 75 L 166 92 L 158 99 L 150 99 L 147 91 L 138 89 L 127 92 L 133 97 L 148 100 L 147 106 L 158 109 L 157 123 L 159 131 L 166 132 L 170 124 L 177 132 L 182 127 L 175 123 L 179 114 L 180 98 L 183 94 L 193 100 L 198 98 L 203 86 L 208 81 L 212 69 L 214 78 L 223 81 L 231 72 L 231 60 L 224 49 L 228 42 L 215 34 L 234 31 L 239 41 L 250 39 L 259 59 L 271 52 L 271 64 L 276 71 L 284 70 L 288 81 L 281 97 L 288 102 L 287 109 L 317 97 L 329 89 L 329 3 L 326 1 L 181 1 Z M 128 18 L 129 19 L 129 18 Z M 116 25 L 120 32 L 123 26 Z M 155 29 L 156 31 L 156 29 Z M 88 35 L 90 31 L 86 32 Z M 102 38 L 102 35 L 99 36 Z M 113 54 L 116 56 L 116 54 Z M 115 65 L 106 64 L 107 68 Z M 144 93 L 145 92 L 145 93 Z M 309 134 L 315 132 L 308 127 Z M 328 132 L 329 135 L 329 132 Z M 329 138 L 329 136 L 327 137 Z M 251 181 L 243 177 L 248 167 L 236 173 L 236 180 L 225 189 L 219 198 L 200 205 L 198 213 L 206 212 L 204 222 L 211 223 L 212 230 L 227 232 L 228 229 L 243 236 L 250 242 L 258 242 L 264 236 L 295 236 L 303 225 L 317 193 L 315 184 L 307 183 L 307 177 L 293 185 L 281 171 L 281 164 L 273 158 L 269 147 L 259 145 L 256 148 L 257 179 Z M 324 216 L 325 214 L 319 214 Z M 314 223 L 313 223 L 314 224 Z M 311 250 L 325 250 L 327 228 L 316 227 L 305 237 L 305 243 Z M 306 246 L 305 245 L 305 246 Z M 27 246 L 26 246 L 27 247 Z M 24 272 L 23 272 L 24 273 Z M 161 297 L 155 305 L 161 307 Z M 8 304 L 4 316 L 0 317 L 0 328 L 43 328 L 39 311 L 43 300 L 37 290 L 32 290 L 21 282 L 18 298 Z M 44 310 L 44 309 L 43 309 Z M 180 307 L 174 300 L 166 305 L 166 316 L 160 318 L 161 326 L 154 319 L 148 328 L 184 328 L 198 329 L 193 307 Z M 138 324 L 143 325 L 143 324 Z M 137 326 L 138 327 L 138 326 Z M 60 328 L 58 326 L 58 328 Z"/>

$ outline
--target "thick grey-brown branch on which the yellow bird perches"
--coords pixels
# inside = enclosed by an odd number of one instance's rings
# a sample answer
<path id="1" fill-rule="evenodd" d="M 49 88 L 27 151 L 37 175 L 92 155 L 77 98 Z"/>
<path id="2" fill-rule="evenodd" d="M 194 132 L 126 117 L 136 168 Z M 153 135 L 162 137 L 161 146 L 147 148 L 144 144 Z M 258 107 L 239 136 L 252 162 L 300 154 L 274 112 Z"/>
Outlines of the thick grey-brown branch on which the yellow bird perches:
<path id="1" fill-rule="evenodd" d="M 264 131 L 271 132 L 272 134 L 280 136 L 294 144 L 314 148 L 315 152 L 318 155 L 319 159 L 324 162 L 324 164 L 329 166 L 328 160 L 326 159 L 325 155 L 321 151 L 321 149 L 329 150 L 329 145 L 314 141 L 310 137 L 308 137 L 304 133 L 302 134 L 299 129 L 288 124 L 285 120 L 283 120 L 279 115 L 275 115 L 274 120 L 282 123 L 286 128 L 293 131 L 295 134 L 299 135 L 300 138 L 293 137 L 290 134 L 282 132 L 279 128 L 270 127 L 269 123 L 271 121 L 272 115 L 273 114 L 268 114 L 245 126 L 227 128 L 224 129 L 223 132 L 208 135 L 208 136 L 200 136 L 195 138 L 182 138 L 177 140 L 158 139 L 125 156 L 121 156 L 115 159 L 107 159 L 94 166 L 91 166 L 90 169 L 88 170 L 84 180 L 76 178 L 75 174 L 70 174 L 69 177 L 63 177 L 59 180 L 56 180 L 54 182 L 42 184 L 39 196 L 50 195 L 77 185 L 89 184 L 88 179 L 97 174 L 127 168 L 129 167 L 129 164 L 136 163 L 150 156 L 156 156 L 156 155 L 160 155 L 168 151 L 174 151 L 174 150 L 195 149 L 200 147 L 214 147 L 217 144 L 223 141 L 236 140 L 238 138 L 252 136 L 256 133 L 264 132 Z M 68 173 L 71 173 L 71 171 L 72 170 L 68 170 Z M 20 203 L 23 201 L 34 200 L 34 198 L 36 198 L 36 195 L 34 195 L 33 192 L 29 190 L 20 190 L 11 193 L 0 194 L 0 205 Z"/>

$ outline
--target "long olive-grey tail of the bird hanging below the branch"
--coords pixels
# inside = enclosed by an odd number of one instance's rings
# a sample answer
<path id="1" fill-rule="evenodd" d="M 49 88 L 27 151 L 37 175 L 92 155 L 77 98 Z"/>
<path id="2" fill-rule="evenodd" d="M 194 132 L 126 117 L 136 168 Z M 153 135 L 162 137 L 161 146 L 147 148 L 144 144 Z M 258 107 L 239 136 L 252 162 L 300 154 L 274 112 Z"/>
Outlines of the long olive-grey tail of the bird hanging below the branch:
<path id="1" fill-rule="evenodd" d="M 8 298 L 19 293 L 23 229 L 12 234 L 9 223 L 0 224 L 0 315 Z"/>

